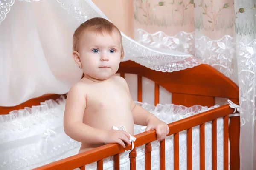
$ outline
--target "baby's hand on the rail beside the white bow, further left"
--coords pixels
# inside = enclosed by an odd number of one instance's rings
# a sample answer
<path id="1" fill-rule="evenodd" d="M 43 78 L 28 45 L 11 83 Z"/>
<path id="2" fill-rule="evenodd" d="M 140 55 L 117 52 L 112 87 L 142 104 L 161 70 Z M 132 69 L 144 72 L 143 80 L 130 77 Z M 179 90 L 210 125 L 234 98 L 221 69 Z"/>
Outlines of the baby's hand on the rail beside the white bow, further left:
<path id="1" fill-rule="evenodd" d="M 104 143 L 108 144 L 108 143 L 118 143 L 120 144 L 122 147 L 125 148 L 125 143 L 131 145 L 130 140 L 130 136 L 127 132 L 123 131 L 123 130 L 106 130 L 105 131 L 105 139 L 104 139 Z"/>

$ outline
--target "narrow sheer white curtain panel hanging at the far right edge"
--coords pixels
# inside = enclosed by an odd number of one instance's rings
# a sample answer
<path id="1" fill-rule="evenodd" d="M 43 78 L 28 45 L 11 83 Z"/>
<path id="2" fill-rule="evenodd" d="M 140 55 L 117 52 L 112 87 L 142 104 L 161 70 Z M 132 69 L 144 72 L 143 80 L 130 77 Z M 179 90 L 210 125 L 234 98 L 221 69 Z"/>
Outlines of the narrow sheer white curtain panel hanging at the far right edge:
<path id="1" fill-rule="evenodd" d="M 256 169 L 256 1 L 235 0 L 241 113 L 240 168 Z"/>

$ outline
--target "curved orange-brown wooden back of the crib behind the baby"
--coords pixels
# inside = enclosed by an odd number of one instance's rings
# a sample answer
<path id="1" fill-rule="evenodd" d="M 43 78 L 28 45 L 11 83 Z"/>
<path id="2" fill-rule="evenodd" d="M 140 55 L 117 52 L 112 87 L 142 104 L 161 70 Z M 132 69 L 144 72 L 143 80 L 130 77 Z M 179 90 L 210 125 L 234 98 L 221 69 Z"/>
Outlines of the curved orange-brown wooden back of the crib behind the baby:
<path id="1" fill-rule="evenodd" d="M 239 88 L 229 78 L 209 65 L 201 64 L 194 68 L 182 71 L 160 72 L 146 68 L 133 61 L 120 63 L 118 73 L 125 77 L 125 73 L 138 75 L 138 101 L 142 102 L 142 77 L 155 82 L 155 104 L 159 103 L 159 87 L 162 86 L 172 93 L 172 103 L 176 105 L 192 106 L 215 104 L 215 97 L 228 98 L 235 101 L 239 99 Z M 13 107 L 0 107 L 0 114 L 8 114 L 10 111 L 40 105 L 48 99 L 57 99 L 59 94 L 46 94 L 30 99 Z"/>

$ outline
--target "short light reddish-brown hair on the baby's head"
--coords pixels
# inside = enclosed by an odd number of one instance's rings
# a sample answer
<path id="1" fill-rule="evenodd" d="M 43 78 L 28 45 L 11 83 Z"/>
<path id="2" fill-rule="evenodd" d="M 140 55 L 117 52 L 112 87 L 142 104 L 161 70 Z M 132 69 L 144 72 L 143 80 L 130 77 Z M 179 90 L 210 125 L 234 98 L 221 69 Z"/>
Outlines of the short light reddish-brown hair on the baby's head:
<path id="1" fill-rule="evenodd" d="M 79 40 L 81 38 L 81 35 L 84 33 L 84 31 L 87 31 L 87 30 L 90 30 L 96 33 L 101 33 L 101 34 L 105 32 L 110 35 L 112 35 L 113 31 L 117 31 L 120 35 L 120 40 L 121 40 L 121 59 L 123 58 L 124 49 L 122 45 L 121 32 L 113 23 L 100 17 L 91 18 L 90 20 L 85 21 L 78 28 L 76 28 L 76 31 L 73 34 L 73 51 L 79 51 L 79 48 L 78 48 Z"/>

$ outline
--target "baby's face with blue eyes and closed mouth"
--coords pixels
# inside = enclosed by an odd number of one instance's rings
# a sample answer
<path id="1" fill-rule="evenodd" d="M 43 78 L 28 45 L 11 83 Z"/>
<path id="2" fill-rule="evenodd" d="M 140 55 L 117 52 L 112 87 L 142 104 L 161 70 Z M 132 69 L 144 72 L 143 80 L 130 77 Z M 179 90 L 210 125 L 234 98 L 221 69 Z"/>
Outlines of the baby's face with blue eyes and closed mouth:
<path id="1" fill-rule="evenodd" d="M 116 74 L 121 61 L 121 40 L 116 31 L 112 35 L 88 31 L 82 35 L 79 49 L 84 74 L 99 80 Z"/>

